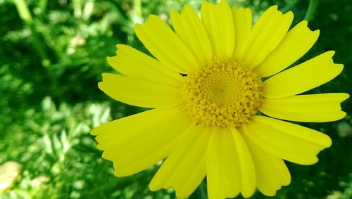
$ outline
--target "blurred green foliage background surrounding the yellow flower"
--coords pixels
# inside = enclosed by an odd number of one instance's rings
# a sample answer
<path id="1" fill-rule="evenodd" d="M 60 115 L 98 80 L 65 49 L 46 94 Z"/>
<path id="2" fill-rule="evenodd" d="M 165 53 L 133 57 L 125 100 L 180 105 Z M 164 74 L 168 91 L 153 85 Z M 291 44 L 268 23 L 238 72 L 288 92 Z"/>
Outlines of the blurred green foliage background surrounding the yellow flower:
<path id="1" fill-rule="evenodd" d="M 252 8 L 255 20 L 272 4 L 294 11 L 294 24 L 309 20 L 320 39 L 298 63 L 334 49 L 335 62 L 345 65 L 339 77 L 310 93 L 352 94 L 351 0 L 229 2 Z M 113 72 L 106 56 L 115 55 L 115 44 L 146 52 L 134 23 L 150 13 L 168 20 L 184 4 L 199 9 L 201 1 L 0 0 L 0 198 L 175 198 L 171 190 L 148 190 L 158 166 L 113 176 L 112 163 L 101 158 L 89 131 L 144 110 L 99 91 L 101 73 Z M 333 145 L 316 165 L 287 162 L 291 185 L 276 198 L 352 198 L 350 99 L 343 108 L 344 120 L 303 124 L 331 136 Z M 206 198 L 206 184 L 190 198 Z"/>

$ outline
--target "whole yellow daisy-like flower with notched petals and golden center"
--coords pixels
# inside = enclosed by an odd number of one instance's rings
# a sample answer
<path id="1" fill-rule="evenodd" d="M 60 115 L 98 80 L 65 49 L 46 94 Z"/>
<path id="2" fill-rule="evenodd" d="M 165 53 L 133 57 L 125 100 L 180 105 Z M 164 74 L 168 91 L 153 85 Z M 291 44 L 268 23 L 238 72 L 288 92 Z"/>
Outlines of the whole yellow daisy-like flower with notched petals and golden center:
<path id="1" fill-rule="evenodd" d="M 283 160 L 318 162 L 320 150 L 332 144 L 329 136 L 283 120 L 345 117 L 340 103 L 348 94 L 302 94 L 339 75 L 343 65 L 327 51 L 284 70 L 319 35 L 306 21 L 289 30 L 293 18 L 272 6 L 252 27 L 251 10 L 221 1 L 204 2 L 201 18 L 188 5 L 173 11 L 173 30 L 156 15 L 137 24 L 137 37 L 155 58 L 118 45 L 108 63 L 121 75 L 103 74 L 99 88 L 117 101 L 153 109 L 92 130 L 115 175 L 165 158 L 151 191 L 173 188 L 186 198 L 206 176 L 209 198 L 248 198 L 256 188 L 275 195 L 290 183 Z"/>

